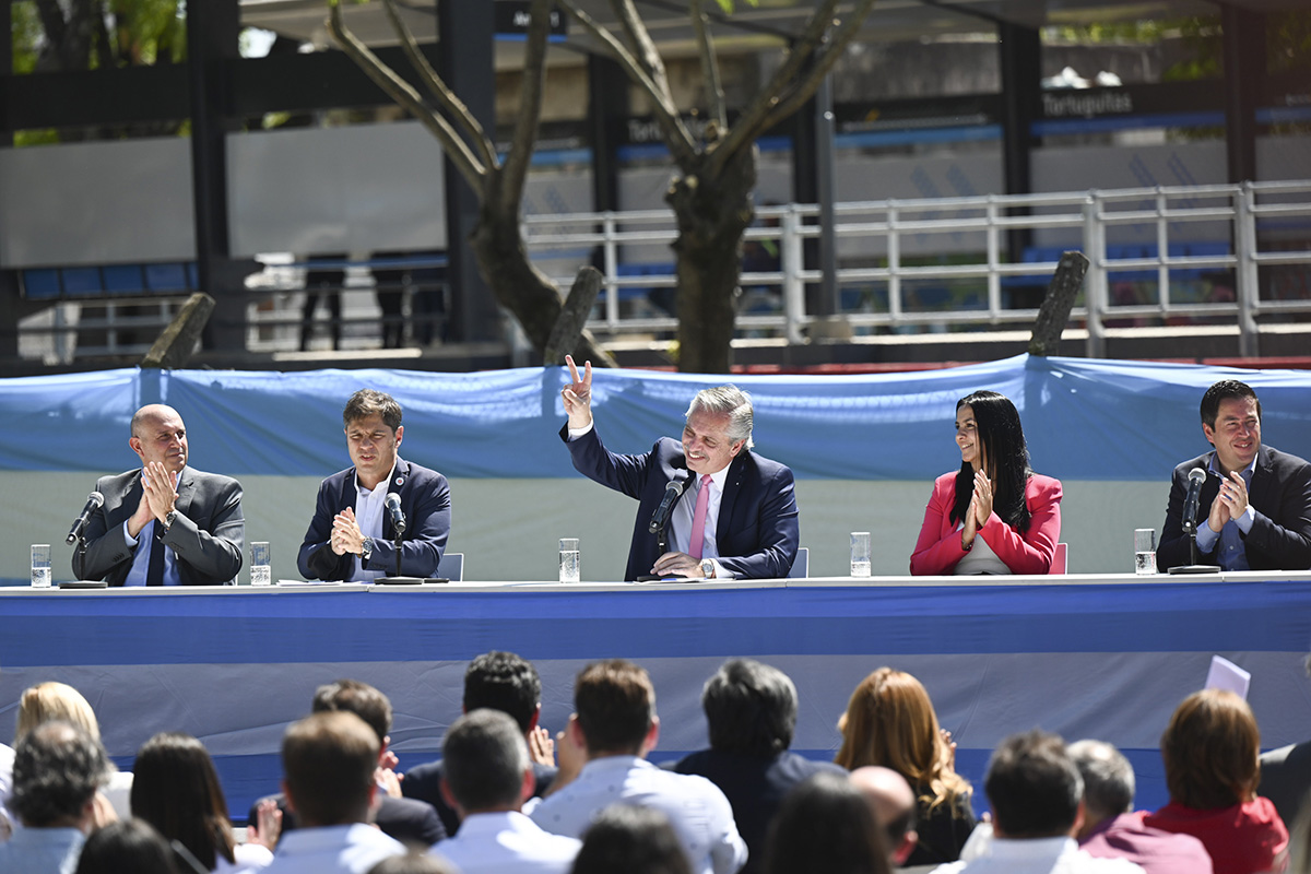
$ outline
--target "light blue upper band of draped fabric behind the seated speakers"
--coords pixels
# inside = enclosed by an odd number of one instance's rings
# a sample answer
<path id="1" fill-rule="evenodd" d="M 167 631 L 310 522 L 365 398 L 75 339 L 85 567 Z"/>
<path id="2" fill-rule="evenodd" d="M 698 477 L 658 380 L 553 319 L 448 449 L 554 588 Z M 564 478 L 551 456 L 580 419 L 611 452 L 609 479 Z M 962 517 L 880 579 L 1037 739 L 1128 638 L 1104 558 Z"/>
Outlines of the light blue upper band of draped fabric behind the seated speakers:
<path id="1" fill-rule="evenodd" d="M 798 478 L 932 480 L 960 463 L 956 401 L 981 388 L 1016 402 L 1041 473 L 1062 480 L 1164 481 L 1203 452 L 1198 404 L 1218 379 L 1261 397 L 1265 443 L 1311 457 L 1311 373 L 1021 355 L 920 373 L 738 376 L 755 398 L 758 451 Z M 451 477 L 573 477 L 556 432 L 564 368 L 484 373 L 299 373 L 119 370 L 0 380 L 0 469 L 123 470 L 127 427 L 163 401 L 187 425 L 198 466 L 325 476 L 342 466 L 341 409 L 376 388 L 405 410 L 401 453 Z M 721 377 L 595 371 L 598 427 L 617 452 L 676 436 L 691 397 Z"/>

